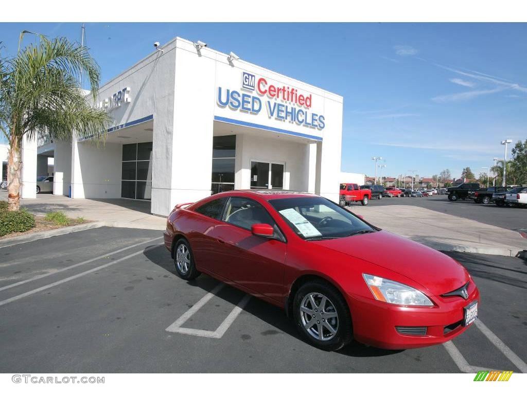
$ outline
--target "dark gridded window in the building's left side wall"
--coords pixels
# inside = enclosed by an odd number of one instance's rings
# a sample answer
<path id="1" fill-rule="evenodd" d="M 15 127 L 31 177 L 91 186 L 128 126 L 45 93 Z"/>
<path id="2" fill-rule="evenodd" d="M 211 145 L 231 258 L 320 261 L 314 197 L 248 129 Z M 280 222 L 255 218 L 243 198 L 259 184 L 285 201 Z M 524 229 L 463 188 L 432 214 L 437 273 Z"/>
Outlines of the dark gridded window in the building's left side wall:
<path id="1" fill-rule="evenodd" d="M 151 200 L 152 143 L 123 144 L 121 197 Z"/>

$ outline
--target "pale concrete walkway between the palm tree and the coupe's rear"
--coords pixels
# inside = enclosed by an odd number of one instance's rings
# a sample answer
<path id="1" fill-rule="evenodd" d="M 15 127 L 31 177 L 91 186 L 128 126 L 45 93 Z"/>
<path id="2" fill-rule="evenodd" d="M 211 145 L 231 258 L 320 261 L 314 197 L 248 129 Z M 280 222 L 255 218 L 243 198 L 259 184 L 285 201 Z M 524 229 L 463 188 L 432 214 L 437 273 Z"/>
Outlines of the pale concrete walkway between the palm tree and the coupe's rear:
<path id="1" fill-rule="evenodd" d="M 0 199 L 7 200 L 2 191 Z M 128 199 L 70 199 L 48 193 L 38 194 L 36 199 L 21 199 L 21 206 L 35 215 L 50 211 L 62 211 L 70 218 L 101 221 L 118 228 L 164 230 L 167 219 L 150 214 L 150 201 Z"/>

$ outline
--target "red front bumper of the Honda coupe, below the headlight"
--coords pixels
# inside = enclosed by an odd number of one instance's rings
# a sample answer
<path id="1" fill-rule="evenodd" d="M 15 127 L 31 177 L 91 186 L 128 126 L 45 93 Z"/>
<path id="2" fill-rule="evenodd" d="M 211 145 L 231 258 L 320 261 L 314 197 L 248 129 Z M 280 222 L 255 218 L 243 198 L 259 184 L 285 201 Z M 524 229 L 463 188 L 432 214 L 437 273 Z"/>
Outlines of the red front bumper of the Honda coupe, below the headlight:
<path id="1" fill-rule="evenodd" d="M 463 308 L 480 301 L 473 281 L 468 291 L 469 299 L 466 300 L 457 296 L 430 297 L 435 304 L 433 307 L 404 307 L 347 294 L 354 338 L 389 350 L 426 347 L 452 340 L 472 325 L 463 326 Z M 401 334 L 397 331 L 401 327 L 426 327 L 426 334 Z"/>

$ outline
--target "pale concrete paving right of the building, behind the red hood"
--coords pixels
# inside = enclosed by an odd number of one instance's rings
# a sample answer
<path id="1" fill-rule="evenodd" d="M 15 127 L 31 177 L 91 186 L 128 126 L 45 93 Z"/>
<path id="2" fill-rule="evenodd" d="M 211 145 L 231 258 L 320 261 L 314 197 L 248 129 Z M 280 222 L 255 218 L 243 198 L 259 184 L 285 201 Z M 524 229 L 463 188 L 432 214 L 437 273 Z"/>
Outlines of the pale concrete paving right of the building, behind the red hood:
<path id="1" fill-rule="evenodd" d="M 417 206 L 349 207 L 364 220 L 440 251 L 515 256 L 527 249 L 520 233 Z"/>

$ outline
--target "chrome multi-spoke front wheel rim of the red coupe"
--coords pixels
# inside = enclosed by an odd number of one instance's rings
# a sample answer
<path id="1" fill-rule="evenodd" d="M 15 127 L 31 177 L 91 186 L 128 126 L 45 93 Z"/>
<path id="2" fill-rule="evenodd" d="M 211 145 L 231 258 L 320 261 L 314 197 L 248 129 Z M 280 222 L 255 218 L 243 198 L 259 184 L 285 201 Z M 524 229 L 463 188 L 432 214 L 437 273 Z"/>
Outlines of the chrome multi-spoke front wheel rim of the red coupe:
<path id="1" fill-rule="evenodd" d="M 331 340 L 338 331 L 338 313 L 335 305 L 318 292 L 310 292 L 302 299 L 300 319 L 306 332 L 317 340 Z"/>

